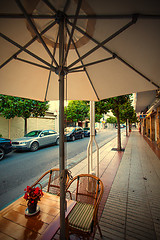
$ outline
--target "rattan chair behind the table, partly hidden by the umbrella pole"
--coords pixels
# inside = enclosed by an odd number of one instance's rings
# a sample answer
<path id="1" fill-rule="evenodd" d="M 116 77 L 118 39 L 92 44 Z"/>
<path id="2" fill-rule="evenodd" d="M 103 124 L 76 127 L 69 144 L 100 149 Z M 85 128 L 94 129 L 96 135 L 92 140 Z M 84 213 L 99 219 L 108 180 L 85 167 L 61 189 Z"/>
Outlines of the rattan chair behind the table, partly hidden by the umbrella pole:
<path id="1" fill-rule="evenodd" d="M 70 179 L 70 173 L 66 173 L 66 186 Z M 43 191 L 50 192 L 56 195 L 60 195 L 60 171 L 59 168 L 52 168 L 46 171 L 33 185 L 36 186 L 38 183 L 42 185 Z"/>

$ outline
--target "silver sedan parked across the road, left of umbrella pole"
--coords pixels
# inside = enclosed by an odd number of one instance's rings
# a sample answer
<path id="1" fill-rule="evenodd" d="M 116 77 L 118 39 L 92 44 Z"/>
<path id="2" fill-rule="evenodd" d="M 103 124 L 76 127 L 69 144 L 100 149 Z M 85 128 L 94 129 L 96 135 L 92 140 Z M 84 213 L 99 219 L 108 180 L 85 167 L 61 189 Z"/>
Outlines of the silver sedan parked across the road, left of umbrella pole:
<path id="1" fill-rule="evenodd" d="M 30 150 L 32 152 L 38 150 L 39 147 L 52 144 L 59 144 L 59 134 L 54 130 L 31 131 L 24 137 L 12 141 L 13 149 Z"/>

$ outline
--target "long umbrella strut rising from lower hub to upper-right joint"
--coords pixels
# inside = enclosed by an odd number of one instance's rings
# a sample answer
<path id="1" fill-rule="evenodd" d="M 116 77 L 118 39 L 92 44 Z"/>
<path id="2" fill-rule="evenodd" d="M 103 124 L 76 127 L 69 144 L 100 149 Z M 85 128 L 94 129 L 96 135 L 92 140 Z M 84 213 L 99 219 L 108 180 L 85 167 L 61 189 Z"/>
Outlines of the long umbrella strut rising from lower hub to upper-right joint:
<path id="1" fill-rule="evenodd" d="M 77 59 L 76 61 L 74 61 L 73 63 L 71 63 L 68 68 L 73 67 L 75 64 L 77 64 L 79 61 L 81 61 L 82 59 L 88 57 L 90 54 L 92 54 L 93 52 L 95 52 L 97 49 L 101 48 L 104 44 L 106 44 L 107 42 L 109 42 L 110 40 L 112 40 L 113 38 L 117 37 L 119 34 L 121 34 L 123 31 L 125 31 L 126 29 L 128 29 L 129 27 L 131 27 L 133 24 L 136 23 L 137 18 L 133 17 L 132 21 L 130 21 L 129 23 L 127 23 L 125 26 L 123 26 L 122 28 L 120 28 L 118 31 L 116 31 L 114 34 L 112 34 L 111 36 L 109 36 L 108 38 L 106 38 L 104 41 L 100 42 L 99 44 L 97 44 L 96 47 L 92 48 L 89 52 L 85 53 L 83 56 L 81 56 L 79 59 Z"/>

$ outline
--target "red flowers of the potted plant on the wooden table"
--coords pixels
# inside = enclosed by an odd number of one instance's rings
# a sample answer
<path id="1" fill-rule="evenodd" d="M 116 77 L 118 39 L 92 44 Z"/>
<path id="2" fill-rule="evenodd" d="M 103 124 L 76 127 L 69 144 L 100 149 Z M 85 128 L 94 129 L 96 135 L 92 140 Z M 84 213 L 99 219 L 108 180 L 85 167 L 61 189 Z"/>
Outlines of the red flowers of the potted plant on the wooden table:
<path id="1" fill-rule="evenodd" d="M 40 185 L 41 186 L 41 185 Z M 42 187 L 30 187 L 24 189 L 24 199 L 28 201 L 28 206 L 37 203 L 40 201 L 41 197 L 43 196 Z"/>

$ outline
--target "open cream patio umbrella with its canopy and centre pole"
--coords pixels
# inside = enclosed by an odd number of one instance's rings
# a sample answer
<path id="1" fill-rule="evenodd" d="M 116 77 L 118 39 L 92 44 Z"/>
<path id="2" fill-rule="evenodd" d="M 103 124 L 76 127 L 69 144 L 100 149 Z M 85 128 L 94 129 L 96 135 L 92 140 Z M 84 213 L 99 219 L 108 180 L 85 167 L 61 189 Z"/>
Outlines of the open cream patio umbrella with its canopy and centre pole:
<path id="1" fill-rule="evenodd" d="M 97 101 L 160 86 L 159 0 L 1 0 L 0 93 Z M 61 239 L 64 238 L 61 184 Z"/>

